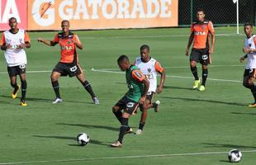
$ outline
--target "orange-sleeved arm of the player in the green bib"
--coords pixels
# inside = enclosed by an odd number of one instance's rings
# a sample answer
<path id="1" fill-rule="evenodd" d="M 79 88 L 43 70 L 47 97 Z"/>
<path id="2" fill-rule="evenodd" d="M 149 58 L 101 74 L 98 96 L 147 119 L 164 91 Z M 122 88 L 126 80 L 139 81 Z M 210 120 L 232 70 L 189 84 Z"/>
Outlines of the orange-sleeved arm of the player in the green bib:
<path id="1" fill-rule="evenodd" d="M 132 78 L 135 79 L 138 82 L 144 83 L 145 85 L 145 90 L 142 94 L 142 96 L 140 97 L 140 104 L 143 104 L 146 100 L 146 95 L 149 91 L 149 80 L 145 77 L 145 75 L 143 73 L 140 72 L 140 70 L 134 70 L 131 73 Z"/>

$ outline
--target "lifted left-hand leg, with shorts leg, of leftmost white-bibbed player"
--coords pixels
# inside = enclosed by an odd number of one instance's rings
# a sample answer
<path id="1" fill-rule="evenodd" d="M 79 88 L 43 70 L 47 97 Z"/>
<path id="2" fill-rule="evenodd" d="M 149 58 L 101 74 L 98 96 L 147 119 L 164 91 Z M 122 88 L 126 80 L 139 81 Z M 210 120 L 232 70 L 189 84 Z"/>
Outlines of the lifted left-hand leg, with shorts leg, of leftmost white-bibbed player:
<path id="1" fill-rule="evenodd" d="M 12 98 L 16 98 L 20 88 L 20 86 L 17 85 L 17 67 L 7 67 L 7 71 L 10 78 L 10 84 L 13 87 Z"/>

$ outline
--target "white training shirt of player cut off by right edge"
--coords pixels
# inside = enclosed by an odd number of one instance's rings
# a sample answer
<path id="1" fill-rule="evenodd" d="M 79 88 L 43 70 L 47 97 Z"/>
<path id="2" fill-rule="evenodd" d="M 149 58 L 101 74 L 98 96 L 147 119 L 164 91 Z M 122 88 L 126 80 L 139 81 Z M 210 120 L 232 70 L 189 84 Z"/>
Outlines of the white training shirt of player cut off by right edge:
<path id="1" fill-rule="evenodd" d="M 256 49 L 256 45 L 254 43 L 254 38 L 256 37 L 256 35 L 252 35 L 249 39 L 246 38 L 244 40 L 244 46 L 250 49 Z M 248 62 L 247 65 L 245 67 L 246 69 L 250 69 L 250 68 L 256 68 L 256 53 L 255 52 L 251 52 L 248 54 Z"/>

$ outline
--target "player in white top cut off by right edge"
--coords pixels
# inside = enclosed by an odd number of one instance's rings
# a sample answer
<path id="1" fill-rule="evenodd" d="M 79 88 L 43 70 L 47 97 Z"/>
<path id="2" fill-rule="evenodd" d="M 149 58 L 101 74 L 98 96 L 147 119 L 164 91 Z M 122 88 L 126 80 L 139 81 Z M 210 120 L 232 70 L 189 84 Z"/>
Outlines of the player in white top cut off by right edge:
<path id="1" fill-rule="evenodd" d="M 253 25 L 249 22 L 244 24 L 244 33 L 246 38 L 244 40 L 244 55 L 240 58 L 240 62 L 244 62 L 244 59 L 248 58 L 248 63 L 244 70 L 244 82 L 243 85 L 249 88 L 254 96 L 254 103 L 249 107 L 256 107 L 256 87 L 254 86 L 254 80 L 256 78 L 256 35 L 253 34 Z"/>

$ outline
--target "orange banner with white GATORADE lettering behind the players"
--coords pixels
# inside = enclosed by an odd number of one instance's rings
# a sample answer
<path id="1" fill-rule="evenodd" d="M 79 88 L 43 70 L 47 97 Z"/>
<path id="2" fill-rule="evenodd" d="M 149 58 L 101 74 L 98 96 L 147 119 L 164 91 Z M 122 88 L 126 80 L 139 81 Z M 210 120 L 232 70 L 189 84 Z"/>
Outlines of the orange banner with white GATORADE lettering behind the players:
<path id="1" fill-rule="evenodd" d="M 178 26 L 178 0 L 28 0 L 29 30 Z"/>

